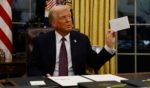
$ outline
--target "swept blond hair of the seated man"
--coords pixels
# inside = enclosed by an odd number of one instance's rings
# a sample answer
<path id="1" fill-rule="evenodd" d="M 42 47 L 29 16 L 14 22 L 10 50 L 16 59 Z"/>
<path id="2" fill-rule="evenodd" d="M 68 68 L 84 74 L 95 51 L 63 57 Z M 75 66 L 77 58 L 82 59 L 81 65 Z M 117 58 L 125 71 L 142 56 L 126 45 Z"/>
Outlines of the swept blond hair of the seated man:
<path id="1" fill-rule="evenodd" d="M 63 10 L 70 11 L 71 8 L 68 5 L 57 5 L 57 6 L 54 6 L 53 8 L 51 8 L 50 11 L 49 11 L 49 15 L 48 15 L 49 23 L 51 24 L 52 20 L 55 18 L 55 16 L 56 16 L 55 13 L 56 12 L 63 11 Z"/>

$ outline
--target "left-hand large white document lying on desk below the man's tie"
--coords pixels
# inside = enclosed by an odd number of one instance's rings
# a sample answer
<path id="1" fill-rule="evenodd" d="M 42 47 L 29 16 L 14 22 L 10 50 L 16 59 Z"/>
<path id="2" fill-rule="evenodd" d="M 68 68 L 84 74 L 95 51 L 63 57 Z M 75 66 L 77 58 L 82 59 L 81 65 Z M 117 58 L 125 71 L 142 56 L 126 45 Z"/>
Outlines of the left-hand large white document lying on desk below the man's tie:
<path id="1" fill-rule="evenodd" d="M 61 86 L 77 86 L 79 82 L 92 82 L 92 80 L 81 76 L 58 76 L 48 78 L 60 84 Z"/>

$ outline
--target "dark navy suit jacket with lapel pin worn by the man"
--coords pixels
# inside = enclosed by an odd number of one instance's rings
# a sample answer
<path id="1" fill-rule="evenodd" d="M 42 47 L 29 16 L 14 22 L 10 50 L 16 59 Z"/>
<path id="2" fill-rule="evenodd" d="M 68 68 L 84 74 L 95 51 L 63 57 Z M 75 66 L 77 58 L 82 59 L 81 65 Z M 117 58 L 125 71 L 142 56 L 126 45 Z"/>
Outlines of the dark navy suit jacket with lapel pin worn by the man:
<path id="1" fill-rule="evenodd" d="M 99 69 L 113 56 L 104 48 L 97 54 L 92 50 L 88 37 L 80 32 L 70 32 L 72 67 L 75 75 L 85 74 L 86 66 Z M 34 44 L 31 58 L 28 59 L 29 76 L 53 75 L 56 62 L 55 31 L 39 36 Z"/>

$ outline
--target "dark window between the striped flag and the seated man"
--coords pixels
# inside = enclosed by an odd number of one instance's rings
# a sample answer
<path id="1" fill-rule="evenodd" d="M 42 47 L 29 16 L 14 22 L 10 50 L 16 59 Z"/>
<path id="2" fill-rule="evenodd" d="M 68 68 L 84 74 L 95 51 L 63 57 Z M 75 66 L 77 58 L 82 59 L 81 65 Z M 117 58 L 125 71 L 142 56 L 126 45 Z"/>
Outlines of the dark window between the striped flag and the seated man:
<path id="1" fill-rule="evenodd" d="M 25 25 L 35 15 L 36 0 L 13 0 L 13 54 L 25 51 Z"/>

